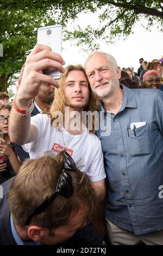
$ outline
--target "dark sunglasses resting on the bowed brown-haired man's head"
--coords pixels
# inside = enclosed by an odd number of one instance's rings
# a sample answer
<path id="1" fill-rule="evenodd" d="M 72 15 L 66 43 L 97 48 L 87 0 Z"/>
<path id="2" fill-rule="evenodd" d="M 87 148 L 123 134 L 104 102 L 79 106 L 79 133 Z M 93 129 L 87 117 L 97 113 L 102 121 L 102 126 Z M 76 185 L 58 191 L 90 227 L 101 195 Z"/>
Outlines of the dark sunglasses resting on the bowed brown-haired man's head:
<path id="1" fill-rule="evenodd" d="M 53 192 L 50 198 L 46 199 L 43 203 L 41 203 L 32 212 L 32 214 L 29 215 L 29 217 L 26 220 L 26 225 L 30 225 L 32 218 L 38 214 L 41 214 L 41 212 L 44 211 L 49 206 L 49 204 L 53 202 L 53 200 L 58 196 L 58 194 L 61 194 L 66 198 L 71 197 L 73 194 L 73 179 L 67 171 L 76 170 L 76 164 L 73 161 L 72 157 L 65 150 L 63 150 L 62 152 L 64 153 L 64 168 L 62 169 L 62 172 L 59 176 L 55 191 Z"/>

